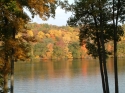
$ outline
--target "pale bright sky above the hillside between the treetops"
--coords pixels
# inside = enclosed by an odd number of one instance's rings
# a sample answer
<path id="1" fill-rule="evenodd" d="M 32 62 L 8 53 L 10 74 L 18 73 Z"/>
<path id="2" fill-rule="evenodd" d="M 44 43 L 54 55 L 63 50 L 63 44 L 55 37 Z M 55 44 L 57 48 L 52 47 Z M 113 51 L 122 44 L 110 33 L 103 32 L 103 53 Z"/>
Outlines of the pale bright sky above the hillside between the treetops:
<path id="1" fill-rule="evenodd" d="M 73 3 L 74 0 L 68 0 L 69 3 Z M 71 12 L 65 12 L 60 7 L 56 9 L 55 18 L 49 18 L 47 21 L 43 21 L 38 15 L 31 19 L 31 22 L 36 22 L 38 24 L 48 23 L 57 26 L 66 26 L 68 18 L 72 15 Z"/>

